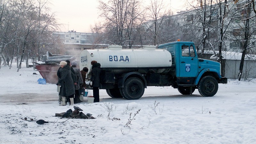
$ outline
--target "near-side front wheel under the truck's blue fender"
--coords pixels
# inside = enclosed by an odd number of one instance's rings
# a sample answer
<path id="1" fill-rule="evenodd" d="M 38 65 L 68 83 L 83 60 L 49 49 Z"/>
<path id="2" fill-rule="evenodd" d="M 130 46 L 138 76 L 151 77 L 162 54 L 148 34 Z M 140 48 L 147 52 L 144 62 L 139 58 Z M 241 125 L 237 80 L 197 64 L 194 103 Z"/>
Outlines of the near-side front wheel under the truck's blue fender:
<path id="1" fill-rule="evenodd" d="M 198 83 L 198 92 L 204 97 L 212 97 L 218 91 L 218 81 L 212 76 L 204 76 Z"/>

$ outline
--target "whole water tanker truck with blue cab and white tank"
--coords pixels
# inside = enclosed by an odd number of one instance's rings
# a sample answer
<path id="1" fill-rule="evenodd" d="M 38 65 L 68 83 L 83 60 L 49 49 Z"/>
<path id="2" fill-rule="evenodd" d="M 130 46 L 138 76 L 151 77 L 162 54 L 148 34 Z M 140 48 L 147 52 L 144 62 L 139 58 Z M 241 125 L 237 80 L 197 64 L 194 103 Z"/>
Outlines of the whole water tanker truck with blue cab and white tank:
<path id="1" fill-rule="evenodd" d="M 100 89 L 106 89 L 112 98 L 139 99 L 147 86 L 172 86 L 183 95 L 198 89 L 202 96 L 212 97 L 219 83 L 227 84 L 227 78 L 220 75 L 220 63 L 198 58 L 193 42 L 176 41 L 139 49 L 111 45 L 84 50 L 80 57 L 80 69 L 89 69 L 87 80 L 91 78 L 91 61 L 101 64 Z"/>

